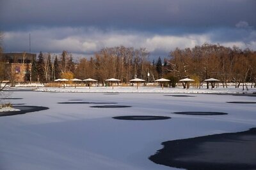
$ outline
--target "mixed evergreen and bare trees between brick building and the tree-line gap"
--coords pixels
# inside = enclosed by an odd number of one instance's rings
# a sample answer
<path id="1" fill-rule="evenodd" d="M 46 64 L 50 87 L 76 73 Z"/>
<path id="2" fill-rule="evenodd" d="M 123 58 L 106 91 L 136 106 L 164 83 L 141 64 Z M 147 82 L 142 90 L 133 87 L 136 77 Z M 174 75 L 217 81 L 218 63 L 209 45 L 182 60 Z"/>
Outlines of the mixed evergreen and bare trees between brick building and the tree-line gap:
<path id="1" fill-rule="evenodd" d="M 148 60 L 145 48 L 134 49 L 125 46 L 102 48 L 93 57 L 79 59 L 74 63 L 72 54 L 63 51 L 61 55 L 42 53 L 32 62 L 32 81 L 49 82 L 58 78 L 94 78 L 104 83 L 108 78 L 117 78 L 127 83 L 132 78 L 148 81 L 163 76 L 161 58 L 156 63 Z M 157 69 L 154 69 L 157 67 Z"/>

